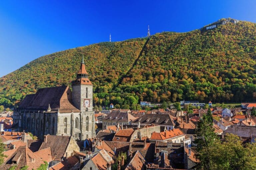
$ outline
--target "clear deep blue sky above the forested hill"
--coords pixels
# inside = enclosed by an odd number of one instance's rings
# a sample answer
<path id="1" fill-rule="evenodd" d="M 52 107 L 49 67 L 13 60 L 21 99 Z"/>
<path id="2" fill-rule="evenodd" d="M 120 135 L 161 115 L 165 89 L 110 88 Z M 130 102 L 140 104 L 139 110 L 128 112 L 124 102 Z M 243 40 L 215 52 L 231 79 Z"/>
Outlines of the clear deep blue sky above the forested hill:
<path id="1" fill-rule="evenodd" d="M 0 77 L 53 52 L 199 29 L 221 18 L 256 22 L 256 1 L 1 1 Z"/>

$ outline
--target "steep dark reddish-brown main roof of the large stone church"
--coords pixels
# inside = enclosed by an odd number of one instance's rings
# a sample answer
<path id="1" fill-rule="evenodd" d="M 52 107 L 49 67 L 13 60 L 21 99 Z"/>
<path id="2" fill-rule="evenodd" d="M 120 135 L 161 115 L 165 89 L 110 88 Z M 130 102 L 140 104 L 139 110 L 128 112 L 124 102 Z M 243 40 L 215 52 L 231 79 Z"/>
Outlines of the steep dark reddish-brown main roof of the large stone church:
<path id="1" fill-rule="evenodd" d="M 52 111 L 58 111 L 59 109 L 79 112 L 72 103 L 72 92 L 68 86 L 38 89 L 36 94 L 27 95 L 19 108 L 47 111 L 49 104 Z"/>

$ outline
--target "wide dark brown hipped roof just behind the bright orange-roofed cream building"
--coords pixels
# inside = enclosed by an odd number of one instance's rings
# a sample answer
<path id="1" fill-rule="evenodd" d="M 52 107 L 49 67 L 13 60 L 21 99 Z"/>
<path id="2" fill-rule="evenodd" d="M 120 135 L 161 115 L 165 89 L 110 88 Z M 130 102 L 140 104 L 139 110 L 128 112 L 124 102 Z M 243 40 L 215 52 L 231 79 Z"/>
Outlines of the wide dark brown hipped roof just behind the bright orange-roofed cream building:
<path id="1" fill-rule="evenodd" d="M 140 118 L 137 118 L 132 123 L 141 124 L 155 124 L 155 125 L 169 125 L 175 126 L 175 123 L 169 114 L 145 114 Z"/>

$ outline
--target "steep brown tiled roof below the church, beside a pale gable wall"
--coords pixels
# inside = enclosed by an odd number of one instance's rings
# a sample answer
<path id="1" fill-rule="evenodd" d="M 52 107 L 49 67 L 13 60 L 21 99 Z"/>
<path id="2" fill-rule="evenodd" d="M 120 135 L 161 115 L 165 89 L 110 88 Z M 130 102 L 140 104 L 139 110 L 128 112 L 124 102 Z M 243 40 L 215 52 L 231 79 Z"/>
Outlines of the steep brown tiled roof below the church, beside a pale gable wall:
<path id="1" fill-rule="evenodd" d="M 68 146 L 70 136 L 55 136 L 55 135 L 46 135 L 47 141 L 43 142 L 40 149 L 45 149 L 50 147 L 52 151 L 52 156 L 54 160 L 61 160 L 65 154 L 65 150 Z"/>

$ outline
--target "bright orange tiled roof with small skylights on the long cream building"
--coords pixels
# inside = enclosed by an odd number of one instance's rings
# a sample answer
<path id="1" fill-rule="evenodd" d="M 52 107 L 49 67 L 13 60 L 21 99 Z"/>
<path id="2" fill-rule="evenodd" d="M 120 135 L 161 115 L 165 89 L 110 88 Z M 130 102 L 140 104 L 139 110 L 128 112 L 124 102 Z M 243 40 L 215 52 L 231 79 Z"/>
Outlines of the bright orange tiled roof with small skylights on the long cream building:
<path id="1" fill-rule="evenodd" d="M 151 140 L 166 140 L 171 139 L 176 136 L 184 135 L 184 133 L 179 128 L 174 128 L 172 130 L 166 130 L 163 132 L 153 132 L 151 135 Z"/>

